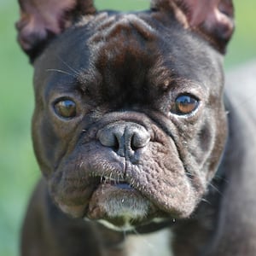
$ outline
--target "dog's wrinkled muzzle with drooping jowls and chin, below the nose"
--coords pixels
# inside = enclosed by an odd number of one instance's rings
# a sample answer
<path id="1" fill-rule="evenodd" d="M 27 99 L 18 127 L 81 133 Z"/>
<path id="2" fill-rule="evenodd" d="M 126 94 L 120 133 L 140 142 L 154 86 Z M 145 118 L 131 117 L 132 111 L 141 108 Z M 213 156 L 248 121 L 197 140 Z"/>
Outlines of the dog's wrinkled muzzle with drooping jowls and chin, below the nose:
<path id="1" fill-rule="evenodd" d="M 187 177 L 174 143 L 169 142 L 149 143 L 129 160 L 90 143 L 86 158 L 79 154 L 75 162 L 63 161 L 50 179 L 50 193 L 63 212 L 104 220 L 119 230 L 154 218 L 187 218 L 205 191 L 204 183 L 200 177 Z M 78 157 L 83 160 L 79 164 Z M 74 165 L 78 167 L 73 170 Z"/>

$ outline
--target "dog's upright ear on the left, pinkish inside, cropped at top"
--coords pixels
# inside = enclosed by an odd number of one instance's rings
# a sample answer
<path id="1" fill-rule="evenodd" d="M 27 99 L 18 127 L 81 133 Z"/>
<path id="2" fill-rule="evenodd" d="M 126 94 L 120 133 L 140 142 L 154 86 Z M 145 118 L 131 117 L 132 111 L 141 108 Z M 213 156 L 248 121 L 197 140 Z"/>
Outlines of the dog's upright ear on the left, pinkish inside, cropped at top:
<path id="1" fill-rule="evenodd" d="M 93 0 L 19 0 L 16 23 L 21 48 L 33 60 L 50 38 L 61 33 L 79 15 L 93 15 Z"/>

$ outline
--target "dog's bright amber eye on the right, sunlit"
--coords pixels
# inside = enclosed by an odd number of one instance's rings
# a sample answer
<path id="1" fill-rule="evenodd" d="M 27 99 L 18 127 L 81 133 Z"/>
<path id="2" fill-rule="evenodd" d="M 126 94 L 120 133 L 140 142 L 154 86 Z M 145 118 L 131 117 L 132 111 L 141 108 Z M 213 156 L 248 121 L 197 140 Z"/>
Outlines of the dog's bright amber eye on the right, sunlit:
<path id="1" fill-rule="evenodd" d="M 179 115 L 189 114 L 195 111 L 198 105 L 199 101 L 194 96 L 177 96 L 173 112 Z"/>

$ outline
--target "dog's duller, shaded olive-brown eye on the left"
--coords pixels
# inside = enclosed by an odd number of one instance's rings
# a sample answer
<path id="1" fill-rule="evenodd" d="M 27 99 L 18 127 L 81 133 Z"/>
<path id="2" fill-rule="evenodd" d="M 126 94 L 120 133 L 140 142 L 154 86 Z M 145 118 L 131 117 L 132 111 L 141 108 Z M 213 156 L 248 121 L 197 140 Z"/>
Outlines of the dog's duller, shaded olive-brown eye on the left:
<path id="1" fill-rule="evenodd" d="M 77 114 L 76 103 L 69 99 L 61 99 L 55 102 L 55 113 L 62 118 L 73 118 Z"/>

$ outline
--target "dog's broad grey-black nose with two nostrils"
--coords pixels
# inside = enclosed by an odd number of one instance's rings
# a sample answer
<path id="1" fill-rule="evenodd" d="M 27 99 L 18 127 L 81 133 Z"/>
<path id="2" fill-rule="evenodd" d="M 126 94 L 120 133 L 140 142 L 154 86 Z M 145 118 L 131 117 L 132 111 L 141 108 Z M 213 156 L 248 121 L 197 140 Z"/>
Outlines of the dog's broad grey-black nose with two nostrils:
<path id="1" fill-rule="evenodd" d="M 107 125 L 98 131 L 97 137 L 103 146 L 113 148 L 121 156 L 131 156 L 150 141 L 150 135 L 143 125 L 131 122 Z"/>

